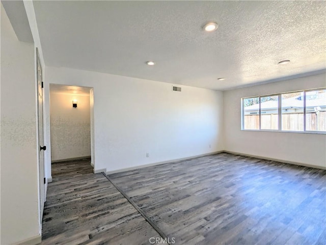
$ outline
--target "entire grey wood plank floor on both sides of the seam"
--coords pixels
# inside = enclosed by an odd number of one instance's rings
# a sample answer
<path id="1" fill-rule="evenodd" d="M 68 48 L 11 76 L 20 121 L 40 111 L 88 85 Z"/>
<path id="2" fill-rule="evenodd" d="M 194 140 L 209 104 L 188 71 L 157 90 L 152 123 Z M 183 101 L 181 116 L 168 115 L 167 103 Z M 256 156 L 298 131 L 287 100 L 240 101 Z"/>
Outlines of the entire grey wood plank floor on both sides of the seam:
<path id="1" fill-rule="evenodd" d="M 42 244 L 160 237 L 89 160 L 53 164 L 52 173 Z M 170 244 L 326 244 L 324 170 L 220 153 L 109 177 Z"/>

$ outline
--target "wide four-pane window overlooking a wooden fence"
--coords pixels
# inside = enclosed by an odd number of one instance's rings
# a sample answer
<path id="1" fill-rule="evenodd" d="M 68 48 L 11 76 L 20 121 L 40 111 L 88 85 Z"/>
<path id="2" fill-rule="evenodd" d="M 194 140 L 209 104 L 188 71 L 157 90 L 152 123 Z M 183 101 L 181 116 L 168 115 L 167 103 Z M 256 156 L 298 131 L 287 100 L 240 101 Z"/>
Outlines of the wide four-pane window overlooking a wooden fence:
<path id="1" fill-rule="evenodd" d="M 242 98 L 242 130 L 326 132 L 326 89 Z"/>

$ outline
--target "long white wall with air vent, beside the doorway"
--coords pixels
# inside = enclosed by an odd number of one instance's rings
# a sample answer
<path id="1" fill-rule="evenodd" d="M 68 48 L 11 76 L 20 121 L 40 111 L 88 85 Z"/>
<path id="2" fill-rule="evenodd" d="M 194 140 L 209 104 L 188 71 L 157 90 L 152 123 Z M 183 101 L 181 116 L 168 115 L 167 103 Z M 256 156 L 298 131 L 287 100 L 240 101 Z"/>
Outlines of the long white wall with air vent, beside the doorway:
<path id="1" fill-rule="evenodd" d="M 171 84 L 157 81 L 68 68 L 46 69 L 46 83 L 94 88 L 95 171 L 224 148 L 222 92 L 182 86 L 179 93 L 172 91 Z"/>

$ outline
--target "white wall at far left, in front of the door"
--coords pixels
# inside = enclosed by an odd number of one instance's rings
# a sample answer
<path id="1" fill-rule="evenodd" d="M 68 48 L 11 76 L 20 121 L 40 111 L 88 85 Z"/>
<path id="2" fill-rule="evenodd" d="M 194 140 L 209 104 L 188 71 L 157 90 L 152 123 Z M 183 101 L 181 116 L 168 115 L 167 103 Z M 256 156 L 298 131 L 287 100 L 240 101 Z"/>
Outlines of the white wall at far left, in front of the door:
<path id="1" fill-rule="evenodd" d="M 1 244 L 39 235 L 35 49 L 1 5 Z"/>

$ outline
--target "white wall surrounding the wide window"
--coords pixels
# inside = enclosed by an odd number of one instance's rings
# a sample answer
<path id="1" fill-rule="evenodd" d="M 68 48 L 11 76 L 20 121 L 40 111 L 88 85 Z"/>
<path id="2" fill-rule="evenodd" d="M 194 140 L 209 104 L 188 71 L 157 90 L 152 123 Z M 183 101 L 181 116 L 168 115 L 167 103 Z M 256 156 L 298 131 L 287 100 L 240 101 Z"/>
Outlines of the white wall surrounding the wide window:
<path id="1" fill-rule="evenodd" d="M 325 87 L 325 74 L 224 92 L 225 150 L 326 167 L 326 135 L 241 131 L 242 97 Z"/>

